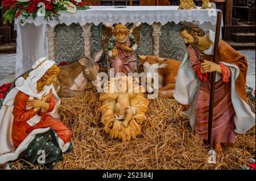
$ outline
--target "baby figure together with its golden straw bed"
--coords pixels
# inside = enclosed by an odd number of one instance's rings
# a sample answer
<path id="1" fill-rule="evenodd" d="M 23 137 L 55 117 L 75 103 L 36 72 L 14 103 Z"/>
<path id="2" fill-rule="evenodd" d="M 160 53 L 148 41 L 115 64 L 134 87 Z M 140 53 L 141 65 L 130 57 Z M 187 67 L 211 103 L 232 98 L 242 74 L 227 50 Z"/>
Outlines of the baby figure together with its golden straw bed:
<path id="1" fill-rule="evenodd" d="M 133 80 L 132 77 L 123 76 L 110 81 L 110 84 L 114 84 L 114 91 L 104 92 L 100 96 L 104 131 L 111 138 L 118 137 L 123 142 L 135 139 L 141 134 L 141 125 L 147 119 L 145 113 L 149 104 L 142 93 L 143 87 L 136 88 L 134 84 L 129 87 L 126 83 L 128 79 Z"/>

